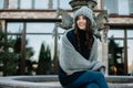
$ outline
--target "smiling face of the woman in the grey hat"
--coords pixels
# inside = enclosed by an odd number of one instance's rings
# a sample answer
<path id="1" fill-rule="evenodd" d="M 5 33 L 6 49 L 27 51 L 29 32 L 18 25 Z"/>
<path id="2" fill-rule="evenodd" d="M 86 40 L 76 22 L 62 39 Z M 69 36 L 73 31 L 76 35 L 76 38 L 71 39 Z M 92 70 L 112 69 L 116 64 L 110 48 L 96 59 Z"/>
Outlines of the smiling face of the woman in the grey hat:
<path id="1" fill-rule="evenodd" d="M 76 19 L 76 24 L 80 30 L 86 29 L 86 19 L 84 15 L 79 15 Z"/>

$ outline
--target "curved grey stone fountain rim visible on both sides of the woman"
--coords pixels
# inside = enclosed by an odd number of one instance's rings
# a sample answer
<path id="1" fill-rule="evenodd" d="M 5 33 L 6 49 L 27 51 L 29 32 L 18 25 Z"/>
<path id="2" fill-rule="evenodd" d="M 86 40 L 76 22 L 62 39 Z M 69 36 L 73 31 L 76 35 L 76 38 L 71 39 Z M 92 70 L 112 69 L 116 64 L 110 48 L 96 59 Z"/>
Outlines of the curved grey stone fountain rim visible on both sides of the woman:
<path id="1" fill-rule="evenodd" d="M 106 76 L 110 88 L 133 88 L 131 76 Z M 0 88 L 62 88 L 57 75 L 0 77 Z"/>

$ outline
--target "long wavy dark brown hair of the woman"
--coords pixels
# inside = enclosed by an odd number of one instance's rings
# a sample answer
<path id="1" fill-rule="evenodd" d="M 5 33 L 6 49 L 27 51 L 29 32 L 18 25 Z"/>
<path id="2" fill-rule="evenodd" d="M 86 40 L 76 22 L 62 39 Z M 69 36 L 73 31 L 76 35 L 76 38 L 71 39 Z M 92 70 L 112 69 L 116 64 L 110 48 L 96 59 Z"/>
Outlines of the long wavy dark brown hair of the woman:
<path id="1" fill-rule="evenodd" d="M 92 44 L 93 44 L 93 30 L 92 30 L 92 23 L 91 21 L 85 18 L 86 20 L 86 29 L 85 29 L 85 46 L 88 46 L 89 50 L 92 48 Z M 75 38 L 76 38 L 76 42 L 78 42 L 78 50 L 81 52 L 81 42 L 80 42 L 80 37 L 79 37 L 79 28 L 78 28 L 78 24 L 76 24 L 76 21 L 78 21 L 78 16 L 75 18 L 75 25 L 74 25 L 74 34 L 75 34 Z"/>

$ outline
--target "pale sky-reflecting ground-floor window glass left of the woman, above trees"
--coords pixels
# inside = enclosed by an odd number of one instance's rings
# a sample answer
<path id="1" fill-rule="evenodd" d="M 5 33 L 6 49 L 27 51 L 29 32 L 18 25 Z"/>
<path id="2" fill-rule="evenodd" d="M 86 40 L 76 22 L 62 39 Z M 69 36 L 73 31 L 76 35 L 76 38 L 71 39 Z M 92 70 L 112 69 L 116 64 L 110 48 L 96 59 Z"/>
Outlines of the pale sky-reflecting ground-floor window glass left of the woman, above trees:
<path id="1" fill-rule="evenodd" d="M 16 38 L 18 33 L 22 36 L 23 28 L 25 26 L 25 48 L 30 47 L 34 52 L 33 56 L 30 57 L 31 61 L 38 61 L 39 52 L 41 44 L 44 43 L 47 46 L 50 47 L 51 51 L 51 58 L 54 55 L 54 23 L 48 22 L 27 22 L 25 25 L 23 22 L 8 22 L 7 23 L 7 31 L 9 35 L 13 34 Z M 60 44 L 60 37 L 64 30 L 58 28 L 58 44 Z M 22 36 L 23 38 L 23 36 Z M 24 43 L 24 42 L 23 42 Z M 25 51 L 27 54 L 27 51 Z M 27 57 L 27 55 L 25 55 Z"/>

